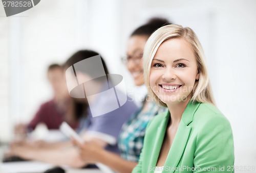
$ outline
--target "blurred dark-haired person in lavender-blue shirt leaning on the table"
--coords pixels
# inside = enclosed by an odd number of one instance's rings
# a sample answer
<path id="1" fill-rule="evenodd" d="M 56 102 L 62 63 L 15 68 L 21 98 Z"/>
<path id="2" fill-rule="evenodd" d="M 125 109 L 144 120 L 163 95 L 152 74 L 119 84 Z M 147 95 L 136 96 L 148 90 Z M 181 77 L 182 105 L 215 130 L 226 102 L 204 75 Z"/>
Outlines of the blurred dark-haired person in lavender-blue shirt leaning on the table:
<path id="1" fill-rule="evenodd" d="M 99 55 L 97 52 L 83 50 L 75 53 L 70 59 L 65 63 L 65 69 L 72 67 L 75 63 L 88 58 L 95 58 Z M 101 58 L 105 74 L 108 74 L 108 69 L 104 63 L 104 60 Z M 93 67 L 95 68 L 95 67 Z M 87 79 L 92 79 L 93 74 L 83 71 L 76 71 L 77 77 L 83 77 Z M 105 88 L 105 81 L 100 79 L 92 80 L 94 84 L 93 88 L 96 89 L 94 92 L 100 93 L 103 88 Z M 99 87 L 101 86 L 101 87 Z M 103 87 L 103 88 L 102 88 Z M 123 123 L 130 118 L 131 114 L 137 110 L 136 105 L 127 99 L 127 102 L 120 108 L 113 110 L 109 113 L 105 113 L 100 116 L 93 117 L 90 107 L 88 105 L 87 98 L 73 98 L 76 102 L 85 103 L 87 106 L 84 106 L 84 116 L 79 123 L 79 129 L 84 130 L 84 133 L 81 135 L 84 141 L 91 141 L 96 144 L 99 148 L 102 148 L 111 153 L 119 154 L 117 146 L 117 138 L 120 132 L 120 129 Z M 95 97 L 95 103 L 98 103 L 98 109 L 108 109 L 110 100 L 109 95 Z M 67 148 L 68 147 L 68 148 Z M 65 150 L 63 150 L 65 149 Z M 66 164 L 73 167 L 83 167 L 87 165 L 88 162 L 83 161 L 80 158 L 79 150 L 75 147 L 72 142 L 62 142 L 58 144 L 48 144 L 44 147 L 33 147 L 31 145 L 20 145 L 16 144 L 11 147 L 9 156 L 18 156 L 24 159 L 29 160 L 38 160 L 49 162 L 53 164 Z"/>

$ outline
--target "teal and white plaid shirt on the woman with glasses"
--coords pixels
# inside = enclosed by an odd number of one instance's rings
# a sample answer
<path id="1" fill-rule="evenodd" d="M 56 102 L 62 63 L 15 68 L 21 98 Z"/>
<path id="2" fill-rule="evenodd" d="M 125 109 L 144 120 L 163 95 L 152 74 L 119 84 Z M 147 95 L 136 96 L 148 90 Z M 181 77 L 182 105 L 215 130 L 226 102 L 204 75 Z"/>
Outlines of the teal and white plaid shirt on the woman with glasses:
<path id="1" fill-rule="evenodd" d="M 147 123 L 166 108 L 157 106 L 153 101 L 147 102 L 124 123 L 119 135 L 118 146 L 121 157 L 128 161 L 138 162 Z"/>

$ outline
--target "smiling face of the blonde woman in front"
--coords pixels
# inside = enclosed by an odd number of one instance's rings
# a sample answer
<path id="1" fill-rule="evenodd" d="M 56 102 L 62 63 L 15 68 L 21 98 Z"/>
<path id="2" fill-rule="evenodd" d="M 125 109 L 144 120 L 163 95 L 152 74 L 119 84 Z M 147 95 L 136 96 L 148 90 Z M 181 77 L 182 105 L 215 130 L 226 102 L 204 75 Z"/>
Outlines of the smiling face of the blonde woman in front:
<path id="1" fill-rule="evenodd" d="M 167 104 L 189 101 L 195 81 L 199 80 L 194 51 L 183 38 L 164 41 L 153 58 L 150 87 Z"/>

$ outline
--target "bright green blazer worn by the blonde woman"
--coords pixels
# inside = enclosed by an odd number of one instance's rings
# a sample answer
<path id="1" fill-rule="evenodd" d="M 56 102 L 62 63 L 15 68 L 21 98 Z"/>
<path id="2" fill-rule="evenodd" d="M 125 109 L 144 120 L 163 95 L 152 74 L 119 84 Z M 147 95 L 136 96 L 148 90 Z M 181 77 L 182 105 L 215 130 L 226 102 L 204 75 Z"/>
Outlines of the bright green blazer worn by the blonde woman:
<path id="1" fill-rule="evenodd" d="M 148 123 L 138 165 L 133 172 L 154 172 L 170 118 L 169 111 Z M 189 102 L 162 172 L 234 172 L 230 123 L 213 105 Z"/>

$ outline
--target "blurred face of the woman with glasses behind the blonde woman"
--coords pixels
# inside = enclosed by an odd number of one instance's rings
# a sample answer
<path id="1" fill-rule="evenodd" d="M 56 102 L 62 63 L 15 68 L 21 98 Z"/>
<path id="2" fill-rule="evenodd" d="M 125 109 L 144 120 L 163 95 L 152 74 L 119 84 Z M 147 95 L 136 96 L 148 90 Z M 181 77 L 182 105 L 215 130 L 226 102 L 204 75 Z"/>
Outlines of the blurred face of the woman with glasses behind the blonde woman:
<path id="1" fill-rule="evenodd" d="M 127 69 L 131 72 L 135 85 L 144 84 L 143 68 L 142 68 L 142 53 L 148 36 L 135 35 L 132 36 L 127 45 Z"/>

